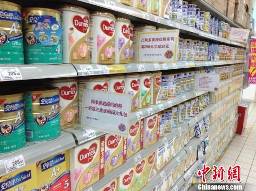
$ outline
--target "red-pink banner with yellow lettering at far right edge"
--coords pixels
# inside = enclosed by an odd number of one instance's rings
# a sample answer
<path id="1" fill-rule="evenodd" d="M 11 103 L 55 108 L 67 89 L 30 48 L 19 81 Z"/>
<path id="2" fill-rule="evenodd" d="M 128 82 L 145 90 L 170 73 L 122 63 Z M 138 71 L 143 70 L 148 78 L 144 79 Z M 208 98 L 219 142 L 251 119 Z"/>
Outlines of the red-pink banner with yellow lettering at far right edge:
<path id="1" fill-rule="evenodd" d="M 256 84 L 256 39 L 250 41 L 248 84 Z"/>

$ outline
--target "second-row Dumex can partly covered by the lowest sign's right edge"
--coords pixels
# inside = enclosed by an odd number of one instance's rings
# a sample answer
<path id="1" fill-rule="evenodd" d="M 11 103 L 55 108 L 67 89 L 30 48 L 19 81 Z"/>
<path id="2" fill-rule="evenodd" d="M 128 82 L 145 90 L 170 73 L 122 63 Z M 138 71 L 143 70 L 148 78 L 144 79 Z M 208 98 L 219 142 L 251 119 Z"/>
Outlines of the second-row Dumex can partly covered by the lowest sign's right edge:
<path id="1" fill-rule="evenodd" d="M 140 75 L 128 74 L 125 76 L 125 93 L 132 95 L 131 112 L 135 112 L 139 109 L 140 102 Z"/>

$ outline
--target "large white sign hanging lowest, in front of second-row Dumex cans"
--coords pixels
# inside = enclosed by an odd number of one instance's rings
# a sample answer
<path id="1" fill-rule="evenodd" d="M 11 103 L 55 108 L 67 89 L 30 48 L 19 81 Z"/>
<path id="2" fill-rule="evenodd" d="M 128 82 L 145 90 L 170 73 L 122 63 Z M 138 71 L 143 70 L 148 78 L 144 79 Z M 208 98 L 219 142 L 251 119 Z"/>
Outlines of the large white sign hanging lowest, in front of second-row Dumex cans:
<path id="1" fill-rule="evenodd" d="M 84 89 L 82 127 L 128 136 L 131 95 Z"/>

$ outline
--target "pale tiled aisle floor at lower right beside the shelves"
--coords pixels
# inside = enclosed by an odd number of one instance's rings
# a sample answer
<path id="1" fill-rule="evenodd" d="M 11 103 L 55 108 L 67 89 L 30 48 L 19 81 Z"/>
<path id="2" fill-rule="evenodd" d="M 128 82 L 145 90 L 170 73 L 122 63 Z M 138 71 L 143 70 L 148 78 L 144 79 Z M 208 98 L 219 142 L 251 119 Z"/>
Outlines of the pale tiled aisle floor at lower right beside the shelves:
<path id="1" fill-rule="evenodd" d="M 229 145 L 215 163 L 225 169 L 229 165 L 241 166 L 241 182 L 246 183 L 244 191 L 256 191 L 256 103 L 251 103 L 248 111 L 247 125 L 242 135 L 235 134 Z M 225 177 L 223 182 L 208 183 L 237 183 L 229 182 Z"/>

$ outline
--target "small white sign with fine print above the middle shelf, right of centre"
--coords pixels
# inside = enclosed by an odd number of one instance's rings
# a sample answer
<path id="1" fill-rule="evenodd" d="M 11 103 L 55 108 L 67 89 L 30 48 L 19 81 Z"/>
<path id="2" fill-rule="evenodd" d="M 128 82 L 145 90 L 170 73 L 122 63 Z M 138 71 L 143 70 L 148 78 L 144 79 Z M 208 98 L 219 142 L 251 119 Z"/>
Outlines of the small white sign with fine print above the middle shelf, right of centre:
<path id="1" fill-rule="evenodd" d="M 215 73 L 195 73 L 195 90 L 218 91 L 220 75 Z"/>

